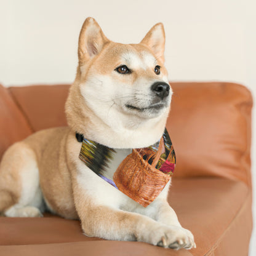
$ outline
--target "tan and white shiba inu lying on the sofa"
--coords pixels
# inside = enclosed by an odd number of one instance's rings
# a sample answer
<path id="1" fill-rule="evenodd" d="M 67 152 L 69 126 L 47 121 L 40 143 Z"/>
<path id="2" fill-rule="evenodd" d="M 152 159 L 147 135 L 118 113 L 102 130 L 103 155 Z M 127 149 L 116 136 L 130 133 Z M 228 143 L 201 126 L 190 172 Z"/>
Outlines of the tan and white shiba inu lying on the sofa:
<path id="1" fill-rule="evenodd" d="M 68 127 L 41 130 L 10 146 L 0 166 L 0 212 L 40 217 L 45 209 L 81 220 L 86 236 L 142 241 L 173 249 L 195 247 L 167 203 L 170 182 L 143 207 L 95 175 L 79 158 L 76 133 L 127 155 L 161 138 L 172 89 L 164 67 L 161 23 L 139 44 L 120 44 L 87 18 L 79 65 L 65 105 Z M 113 177 L 108 168 L 106 176 Z"/>

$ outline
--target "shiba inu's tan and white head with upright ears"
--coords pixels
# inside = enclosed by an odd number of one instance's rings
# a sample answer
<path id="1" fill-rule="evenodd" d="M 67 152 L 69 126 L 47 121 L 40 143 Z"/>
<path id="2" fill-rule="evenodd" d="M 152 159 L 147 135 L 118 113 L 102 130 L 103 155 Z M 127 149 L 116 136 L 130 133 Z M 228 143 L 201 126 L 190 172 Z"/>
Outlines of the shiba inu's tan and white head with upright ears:
<path id="1" fill-rule="evenodd" d="M 66 103 L 70 126 L 86 134 L 92 132 L 93 122 L 127 137 L 127 130 L 134 134 L 156 129 L 154 133 L 161 134 L 172 95 L 164 44 L 162 23 L 139 44 L 119 44 L 106 38 L 94 18 L 87 18 L 79 36 L 76 80 Z M 79 111 L 83 124 L 74 120 Z"/>

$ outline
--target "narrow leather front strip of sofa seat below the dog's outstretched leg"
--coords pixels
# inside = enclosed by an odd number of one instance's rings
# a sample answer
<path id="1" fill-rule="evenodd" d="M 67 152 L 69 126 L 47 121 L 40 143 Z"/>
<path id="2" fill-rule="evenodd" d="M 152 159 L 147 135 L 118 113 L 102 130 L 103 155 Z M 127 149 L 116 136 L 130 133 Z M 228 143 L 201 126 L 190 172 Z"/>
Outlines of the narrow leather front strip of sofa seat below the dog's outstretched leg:
<path id="1" fill-rule="evenodd" d="M 4 256 L 191 256 L 189 251 L 162 249 L 143 242 L 70 242 L 66 244 L 39 244 L 31 246 L 2 246 Z"/>

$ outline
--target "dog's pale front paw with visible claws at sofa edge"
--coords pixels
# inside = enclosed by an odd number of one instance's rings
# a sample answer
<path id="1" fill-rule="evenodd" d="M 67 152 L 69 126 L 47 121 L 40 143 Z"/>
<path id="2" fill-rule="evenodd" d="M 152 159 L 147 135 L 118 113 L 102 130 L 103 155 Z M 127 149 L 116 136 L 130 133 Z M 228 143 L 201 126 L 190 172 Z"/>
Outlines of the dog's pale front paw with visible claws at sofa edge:
<path id="1" fill-rule="evenodd" d="M 151 231 L 148 239 L 150 244 L 175 250 L 196 248 L 193 234 L 180 226 L 158 226 Z"/>

